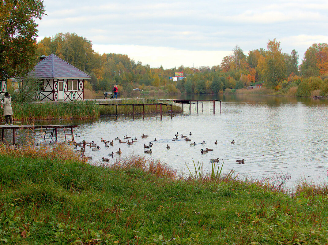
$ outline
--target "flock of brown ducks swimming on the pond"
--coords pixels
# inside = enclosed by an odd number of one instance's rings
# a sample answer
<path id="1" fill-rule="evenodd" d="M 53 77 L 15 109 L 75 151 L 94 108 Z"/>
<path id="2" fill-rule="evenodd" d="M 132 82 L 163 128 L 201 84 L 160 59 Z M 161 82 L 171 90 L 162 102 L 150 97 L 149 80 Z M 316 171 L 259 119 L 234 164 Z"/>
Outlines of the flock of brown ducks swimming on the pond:
<path id="1" fill-rule="evenodd" d="M 189 135 L 191 136 L 192 133 L 190 132 Z M 79 136 L 77 136 L 77 137 L 79 137 Z M 145 134 L 142 134 L 141 135 L 141 139 L 146 139 L 147 137 L 149 137 L 149 135 L 145 135 Z M 176 132 L 176 134 L 174 135 L 174 138 L 172 139 L 172 141 L 178 140 L 178 137 L 179 137 L 179 134 L 178 134 L 178 132 Z M 112 141 L 107 141 L 107 140 L 104 140 L 103 138 L 100 138 L 100 140 L 104 144 L 104 147 L 105 148 L 109 148 L 110 146 L 113 146 L 114 145 L 114 140 L 117 141 L 119 144 L 126 143 L 128 145 L 133 145 L 135 142 L 138 142 L 138 139 L 136 137 L 133 139 L 132 137 L 130 137 L 128 135 L 124 136 L 123 139 L 126 140 L 126 141 L 122 141 L 119 137 L 113 139 Z M 183 134 L 181 134 L 181 139 L 184 139 L 187 142 L 188 141 L 192 141 L 191 139 L 189 139 L 189 136 L 184 136 Z M 157 141 L 157 139 L 155 138 L 154 141 Z M 73 144 L 75 145 L 75 148 L 78 148 L 78 147 L 82 147 L 83 144 L 84 144 L 84 142 L 85 142 L 86 146 L 88 146 L 88 147 L 90 147 L 92 149 L 92 151 L 100 151 L 99 145 L 97 145 L 96 143 L 94 143 L 94 141 L 91 141 L 91 142 L 83 141 L 83 142 L 80 142 L 80 143 L 76 143 L 74 141 Z M 232 144 L 235 144 L 235 141 L 233 140 L 233 141 L 231 141 L 231 143 Z M 206 144 L 206 142 L 203 141 L 203 142 L 201 142 L 201 144 Z M 217 144 L 217 141 L 215 141 L 214 144 Z M 191 146 L 192 145 L 196 145 L 196 142 L 190 143 L 189 145 L 191 145 Z M 151 141 L 149 141 L 149 144 L 147 144 L 147 145 L 144 144 L 143 145 L 143 147 L 144 147 L 144 153 L 145 154 L 151 154 L 151 153 L 153 153 L 153 150 L 151 148 L 152 146 L 153 146 L 153 143 Z M 166 148 L 167 149 L 170 149 L 171 147 L 169 146 L 169 144 L 167 144 Z M 78 150 L 78 151 L 81 151 L 81 150 Z M 213 151 L 213 149 L 210 149 L 210 148 L 206 147 L 205 149 L 202 148 L 200 150 L 200 153 L 201 154 L 205 154 L 205 153 L 208 153 L 209 151 Z M 116 151 L 115 153 L 112 151 L 112 153 L 109 153 L 108 156 L 113 157 L 115 154 L 121 155 L 122 154 L 121 148 L 118 148 L 118 151 Z M 87 158 L 88 159 L 92 159 L 91 157 L 87 157 Z M 219 160 L 220 160 L 219 158 L 210 159 L 211 162 L 219 162 Z M 106 161 L 110 161 L 110 159 L 103 157 L 102 158 L 102 161 L 106 162 Z M 242 163 L 242 164 L 244 164 L 244 161 L 245 161 L 245 159 L 236 160 L 236 163 Z"/>

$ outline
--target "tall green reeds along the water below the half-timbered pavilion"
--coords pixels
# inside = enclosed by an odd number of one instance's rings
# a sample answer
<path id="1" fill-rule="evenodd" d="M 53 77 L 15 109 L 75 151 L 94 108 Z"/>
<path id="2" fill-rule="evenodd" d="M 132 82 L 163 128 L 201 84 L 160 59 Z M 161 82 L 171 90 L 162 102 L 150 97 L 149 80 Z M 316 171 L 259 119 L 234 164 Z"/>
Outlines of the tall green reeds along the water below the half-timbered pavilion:
<path id="1" fill-rule="evenodd" d="M 51 119 L 84 119 L 98 118 L 105 115 L 105 106 L 99 106 L 99 103 L 121 103 L 121 104 L 138 104 L 140 100 L 126 99 L 121 101 L 74 101 L 66 102 L 46 102 L 46 103 L 15 103 L 12 102 L 13 117 L 15 121 L 27 120 L 51 120 Z M 147 103 L 145 101 L 145 103 Z M 149 102 L 150 103 L 150 102 Z M 153 102 L 152 102 L 153 103 Z M 163 109 L 166 109 L 163 108 Z M 181 107 L 173 105 L 174 113 L 181 112 Z M 164 110 L 165 111 L 165 110 Z M 145 106 L 145 114 L 155 113 L 155 106 Z M 125 115 L 132 114 L 132 106 L 119 106 L 118 113 Z M 134 108 L 135 114 L 142 114 L 142 107 Z M 107 107 L 107 115 L 115 115 L 116 107 Z M 3 115 L 1 120 L 5 121 Z"/>

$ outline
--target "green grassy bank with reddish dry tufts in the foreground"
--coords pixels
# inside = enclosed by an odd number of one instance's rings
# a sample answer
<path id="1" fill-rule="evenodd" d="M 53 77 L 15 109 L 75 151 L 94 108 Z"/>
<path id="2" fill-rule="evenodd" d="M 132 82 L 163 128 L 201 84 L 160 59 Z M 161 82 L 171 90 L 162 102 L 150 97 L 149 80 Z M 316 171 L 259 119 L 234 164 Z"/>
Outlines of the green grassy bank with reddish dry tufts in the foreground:
<path id="1" fill-rule="evenodd" d="M 136 156 L 97 167 L 65 145 L 0 152 L 1 243 L 327 243 L 325 189 L 288 196 L 231 175 L 182 178 Z"/>

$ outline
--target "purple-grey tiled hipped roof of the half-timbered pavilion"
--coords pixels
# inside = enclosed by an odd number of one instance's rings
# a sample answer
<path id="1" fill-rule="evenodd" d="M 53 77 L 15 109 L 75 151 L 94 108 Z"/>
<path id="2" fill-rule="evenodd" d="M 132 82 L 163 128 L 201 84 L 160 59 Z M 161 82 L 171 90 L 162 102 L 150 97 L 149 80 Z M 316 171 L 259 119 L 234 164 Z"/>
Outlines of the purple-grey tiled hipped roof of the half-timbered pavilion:
<path id="1" fill-rule="evenodd" d="M 28 76 L 33 78 L 90 78 L 88 74 L 54 54 L 36 64 Z"/>

